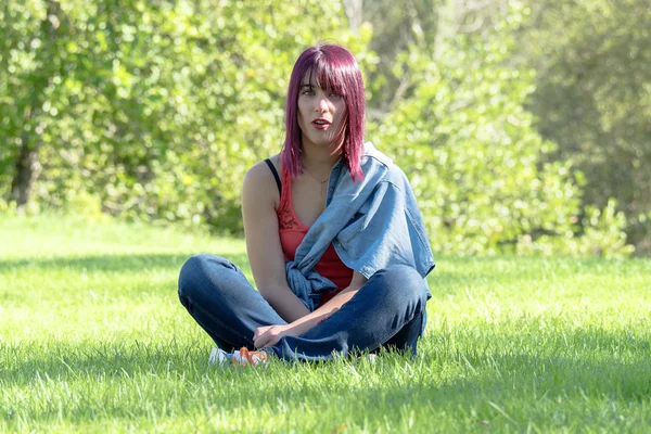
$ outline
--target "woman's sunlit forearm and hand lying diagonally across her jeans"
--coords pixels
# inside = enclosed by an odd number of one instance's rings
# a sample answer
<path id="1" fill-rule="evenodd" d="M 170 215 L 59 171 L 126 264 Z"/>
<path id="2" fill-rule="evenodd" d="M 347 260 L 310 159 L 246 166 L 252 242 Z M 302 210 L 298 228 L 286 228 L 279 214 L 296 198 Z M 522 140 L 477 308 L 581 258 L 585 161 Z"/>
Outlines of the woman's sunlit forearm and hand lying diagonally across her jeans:
<path id="1" fill-rule="evenodd" d="M 311 314 L 308 314 L 286 326 L 271 326 L 258 328 L 254 335 L 254 345 L 261 348 L 268 345 L 275 345 L 282 336 L 299 336 L 307 332 L 312 327 L 317 326 L 330 318 L 332 314 L 342 308 L 350 298 L 357 294 L 357 291 L 368 281 L 362 275 L 357 271 L 353 272 L 353 280 L 348 288 L 336 294 L 328 301 L 323 306 L 319 307 Z"/>

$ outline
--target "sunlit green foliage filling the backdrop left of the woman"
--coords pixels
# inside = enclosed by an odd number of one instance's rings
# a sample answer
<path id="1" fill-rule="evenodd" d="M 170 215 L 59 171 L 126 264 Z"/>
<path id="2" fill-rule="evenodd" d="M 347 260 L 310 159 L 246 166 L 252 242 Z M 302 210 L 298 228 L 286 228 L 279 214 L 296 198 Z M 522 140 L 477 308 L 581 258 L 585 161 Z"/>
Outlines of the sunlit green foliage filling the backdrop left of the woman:
<path id="1" fill-rule="evenodd" d="M 301 5 L 11 0 L 21 18 L 0 30 L 0 112 L 15 115 L 0 124 L 0 182 L 28 132 L 46 205 L 81 190 L 112 214 L 241 230 L 241 180 L 281 148 L 295 58 L 328 35 L 362 47 L 340 4 Z"/>

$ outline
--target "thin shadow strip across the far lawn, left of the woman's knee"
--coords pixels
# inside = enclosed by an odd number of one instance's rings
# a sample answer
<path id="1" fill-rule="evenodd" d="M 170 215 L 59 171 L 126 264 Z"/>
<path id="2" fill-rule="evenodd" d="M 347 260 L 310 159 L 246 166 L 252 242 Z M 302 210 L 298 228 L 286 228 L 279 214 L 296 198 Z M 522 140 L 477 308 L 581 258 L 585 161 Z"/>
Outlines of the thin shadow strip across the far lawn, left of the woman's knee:
<path id="1" fill-rule="evenodd" d="M 146 269 L 180 269 L 195 253 L 63 256 L 33 259 L 0 259 L 0 273 L 29 268 L 34 270 L 72 269 L 86 271 L 142 271 Z M 245 254 L 228 255 L 241 268 L 248 266 Z"/>

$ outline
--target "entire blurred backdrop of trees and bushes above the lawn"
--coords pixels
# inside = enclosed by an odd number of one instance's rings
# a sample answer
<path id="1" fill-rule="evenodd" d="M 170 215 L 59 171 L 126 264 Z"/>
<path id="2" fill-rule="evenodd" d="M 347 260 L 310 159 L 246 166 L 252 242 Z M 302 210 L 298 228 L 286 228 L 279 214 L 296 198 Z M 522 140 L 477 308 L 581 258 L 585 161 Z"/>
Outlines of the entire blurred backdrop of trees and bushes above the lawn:
<path id="1" fill-rule="evenodd" d="M 649 0 L 2 0 L 0 213 L 241 235 L 319 40 L 435 254 L 651 255 Z"/>

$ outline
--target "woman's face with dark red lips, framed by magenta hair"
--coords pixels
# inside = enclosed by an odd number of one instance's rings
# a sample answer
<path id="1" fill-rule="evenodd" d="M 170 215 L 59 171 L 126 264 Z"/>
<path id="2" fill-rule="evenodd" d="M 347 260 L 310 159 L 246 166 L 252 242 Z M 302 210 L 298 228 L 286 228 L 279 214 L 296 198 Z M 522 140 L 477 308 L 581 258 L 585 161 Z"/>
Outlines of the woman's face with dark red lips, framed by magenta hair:
<path id="1" fill-rule="evenodd" d="M 303 143 L 319 146 L 335 145 L 344 139 L 346 103 L 342 95 L 321 89 L 309 74 L 303 78 L 298 89 L 298 126 Z"/>

